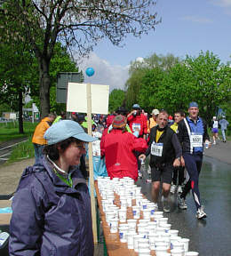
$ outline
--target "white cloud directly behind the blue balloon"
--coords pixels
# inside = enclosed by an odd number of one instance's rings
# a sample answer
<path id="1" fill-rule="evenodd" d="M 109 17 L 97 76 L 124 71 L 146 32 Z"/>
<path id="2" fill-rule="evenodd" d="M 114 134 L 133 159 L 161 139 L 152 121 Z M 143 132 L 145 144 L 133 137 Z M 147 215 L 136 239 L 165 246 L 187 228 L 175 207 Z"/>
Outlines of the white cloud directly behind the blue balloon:
<path id="1" fill-rule="evenodd" d="M 92 52 L 89 58 L 84 59 L 78 66 L 84 72 L 85 83 L 109 85 L 110 92 L 113 89 L 124 90 L 124 84 L 129 77 L 129 66 L 113 66 L 108 62 L 108 60 L 100 59 L 100 57 L 94 52 Z M 95 74 L 92 77 L 87 77 L 85 75 L 85 70 L 90 67 L 94 68 Z"/>

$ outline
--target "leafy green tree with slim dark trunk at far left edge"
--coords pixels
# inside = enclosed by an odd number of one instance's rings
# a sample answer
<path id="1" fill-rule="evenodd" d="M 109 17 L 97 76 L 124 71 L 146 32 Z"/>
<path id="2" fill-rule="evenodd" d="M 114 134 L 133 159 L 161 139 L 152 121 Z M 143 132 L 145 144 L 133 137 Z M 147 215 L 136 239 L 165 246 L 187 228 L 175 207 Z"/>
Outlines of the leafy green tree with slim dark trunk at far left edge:
<path id="1" fill-rule="evenodd" d="M 19 132 L 23 133 L 22 107 L 23 97 L 30 87 L 31 54 L 27 44 L 0 44 L 0 102 L 11 106 L 12 110 L 19 112 Z"/>

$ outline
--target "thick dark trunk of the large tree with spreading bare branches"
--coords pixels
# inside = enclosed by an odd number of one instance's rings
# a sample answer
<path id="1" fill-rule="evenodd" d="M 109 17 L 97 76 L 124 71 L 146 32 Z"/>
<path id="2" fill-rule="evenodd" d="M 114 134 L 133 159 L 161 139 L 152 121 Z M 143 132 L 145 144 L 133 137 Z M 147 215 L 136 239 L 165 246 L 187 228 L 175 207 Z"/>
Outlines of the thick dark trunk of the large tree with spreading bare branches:
<path id="1" fill-rule="evenodd" d="M 40 99 L 40 117 L 44 118 L 50 112 L 50 87 L 51 77 L 49 75 L 50 60 L 44 57 L 39 61 L 39 99 Z"/>

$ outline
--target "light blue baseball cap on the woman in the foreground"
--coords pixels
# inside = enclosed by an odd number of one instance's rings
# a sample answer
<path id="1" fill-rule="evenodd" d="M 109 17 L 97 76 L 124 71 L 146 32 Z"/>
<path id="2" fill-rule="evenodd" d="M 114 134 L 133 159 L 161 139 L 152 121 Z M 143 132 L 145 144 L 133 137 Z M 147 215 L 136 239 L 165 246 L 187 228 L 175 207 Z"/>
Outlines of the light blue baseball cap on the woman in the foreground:
<path id="1" fill-rule="evenodd" d="M 56 124 L 52 124 L 44 133 L 44 139 L 47 140 L 48 145 L 56 144 L 70 137 L 85 142 L 98 140 L 84 132 L 83 127 L 72 120 L 61 120 Z"/>

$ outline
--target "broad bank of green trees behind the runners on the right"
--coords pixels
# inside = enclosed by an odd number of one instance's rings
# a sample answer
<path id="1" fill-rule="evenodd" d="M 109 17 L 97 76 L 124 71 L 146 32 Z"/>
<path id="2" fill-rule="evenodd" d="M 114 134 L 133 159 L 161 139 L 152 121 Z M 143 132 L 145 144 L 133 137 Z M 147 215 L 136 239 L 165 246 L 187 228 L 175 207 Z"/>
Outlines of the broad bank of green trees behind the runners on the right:
<path id="1" fill-rule="evenodd" d="M 197 58 L 187 56 L 181 61 L 172 57 L 168 65 L 163 65 L 166 61 L 160 61 L 161 57 L 155 54 L 152 60 L 155 65 L 148 66 L 144 59 L 141 64 L 131 66 L 126 93 L 128 105 L 139 103 L 148 112 L 164 108 L 173 114 L 179 109 L 187 112 L 188 103 L 197 101 L 200 116 L 207 122 L 219 107 L 229 115 L 231 68 L 221 64 L 212 52 L 200 52 Z"/>

